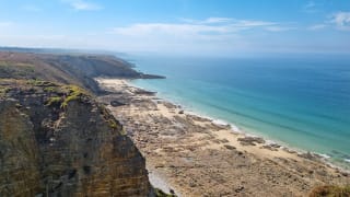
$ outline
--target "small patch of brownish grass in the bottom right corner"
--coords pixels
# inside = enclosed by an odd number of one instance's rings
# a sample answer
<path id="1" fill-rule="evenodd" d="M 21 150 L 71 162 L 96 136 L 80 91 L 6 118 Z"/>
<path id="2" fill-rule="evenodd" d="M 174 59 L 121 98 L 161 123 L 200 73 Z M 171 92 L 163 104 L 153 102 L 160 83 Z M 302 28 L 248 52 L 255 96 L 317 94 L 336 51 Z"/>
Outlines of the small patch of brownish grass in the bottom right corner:
<path id="1" fill-rule="evenodd" d="M 350 185 L 340 187 L 335 185 L 326 185 L 315 187 L 310 197 L 349 197 L 350 196 Z"/>

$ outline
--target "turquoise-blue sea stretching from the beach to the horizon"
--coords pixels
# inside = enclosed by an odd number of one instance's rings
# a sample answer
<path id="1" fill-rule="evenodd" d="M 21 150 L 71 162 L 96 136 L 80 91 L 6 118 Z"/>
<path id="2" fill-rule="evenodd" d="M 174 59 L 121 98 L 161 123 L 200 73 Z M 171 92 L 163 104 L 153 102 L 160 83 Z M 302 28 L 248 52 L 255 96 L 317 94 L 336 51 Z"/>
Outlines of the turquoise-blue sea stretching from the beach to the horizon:
<path id="1" fill-rule="evenodd" d="M 130 60 L 130 58 L 129 58 Z M 350 165 L 350 58 L 133 56 L 135 80 L 189 111 Z"/>

